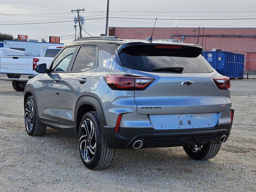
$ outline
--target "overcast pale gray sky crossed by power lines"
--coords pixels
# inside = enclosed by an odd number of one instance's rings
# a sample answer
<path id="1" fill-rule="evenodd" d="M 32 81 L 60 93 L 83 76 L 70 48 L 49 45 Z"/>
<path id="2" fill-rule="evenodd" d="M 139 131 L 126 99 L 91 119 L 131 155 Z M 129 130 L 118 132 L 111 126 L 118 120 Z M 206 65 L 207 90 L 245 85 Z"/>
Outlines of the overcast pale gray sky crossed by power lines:
<path id="1" fill-rule="evenodd" d="M 84 8 L 85 12 L 81 14 L 85 19 L 101 18 L 106 16 L 106 2 L 107 0 L 0 0 L 0 32 L 12 34 L 14 37 L 23 34 L 28 35 L 29 39 L 45 38 L 46 41 L 49 36 L 61 36 L 61 42 L 66 44 L 73 40 L 68 38 L 74 35 L 72 20 L 76 14 L 72 14 L 70 10 Z M 256 18 L 255 8 L 255 0 L 110 0 L 109 6 L 110 17 L 168 19 Z M 71 22 L 2 25 L 59 21 Z M 92 36 L 98 36 L 105 32 L 105 22 L 105 18 L 86 20 L 84 29 Z M 110 18 L 109 26 L 152 27 L 154 20 Z M 156 22 L 156 27 L 177 26 L 256 27 L 256 19 L 158 20 Z M 85 32 L 82 34 L 88 36 Z"/>

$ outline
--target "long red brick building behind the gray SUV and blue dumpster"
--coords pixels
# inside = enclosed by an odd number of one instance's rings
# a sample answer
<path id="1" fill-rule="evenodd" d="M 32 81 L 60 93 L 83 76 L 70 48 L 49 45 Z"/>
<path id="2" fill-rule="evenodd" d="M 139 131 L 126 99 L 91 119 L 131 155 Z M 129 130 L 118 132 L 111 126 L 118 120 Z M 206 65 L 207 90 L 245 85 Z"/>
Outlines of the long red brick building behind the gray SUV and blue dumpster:
<path id="1" fill-rule="evenodd" d="M 109 27 L 110 36 L 145 39 L 153 28 Z M 156 39 L 179 39 L 200 44 L 205 51 L 218 48 L 245 55 L 245 70 L 256 71 L 256 28 L 155 28 Z"/>

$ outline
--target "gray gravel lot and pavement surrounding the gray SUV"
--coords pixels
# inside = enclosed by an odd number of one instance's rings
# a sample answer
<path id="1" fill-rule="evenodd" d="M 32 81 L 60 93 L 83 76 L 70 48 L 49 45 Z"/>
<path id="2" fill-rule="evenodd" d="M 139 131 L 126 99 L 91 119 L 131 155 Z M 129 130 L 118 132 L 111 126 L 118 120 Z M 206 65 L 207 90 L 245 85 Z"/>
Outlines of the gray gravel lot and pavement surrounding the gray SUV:
<path id="1" fill-rule="evenodd" d="M 92 171 L 75 138 L 26 134 L 23 93 L 0 81 L 0 191 L 256 191 L 256 80 L 233 84 L 232 133 L 215 158 L 194 161 L 182 147 L 116 150 L 110 168 Z"/>

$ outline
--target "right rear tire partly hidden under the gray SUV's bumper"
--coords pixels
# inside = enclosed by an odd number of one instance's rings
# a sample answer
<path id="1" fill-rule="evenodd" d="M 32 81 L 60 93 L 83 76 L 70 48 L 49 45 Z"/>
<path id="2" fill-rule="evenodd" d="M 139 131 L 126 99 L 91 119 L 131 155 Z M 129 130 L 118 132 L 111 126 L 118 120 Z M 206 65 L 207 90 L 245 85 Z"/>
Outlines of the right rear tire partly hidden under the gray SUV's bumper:
<path id="1" fill-rule="evenodd" d="M 208 160 L 214 158 L 219 150 L 221 144 L 204 144 L 194 146 L 183 146 L 186 154 L 194 160 Z"/>

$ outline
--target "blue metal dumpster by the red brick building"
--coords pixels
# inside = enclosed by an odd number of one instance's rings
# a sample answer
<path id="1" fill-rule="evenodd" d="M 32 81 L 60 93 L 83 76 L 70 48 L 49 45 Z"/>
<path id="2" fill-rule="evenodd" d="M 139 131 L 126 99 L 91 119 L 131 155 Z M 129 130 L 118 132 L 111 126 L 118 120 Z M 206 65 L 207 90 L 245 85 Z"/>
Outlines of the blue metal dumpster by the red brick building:
<path id="1" fill-rule="evenodd" d="M 244 55 L 226 51 L 203 51 L 204 58 L 218 73 L 230 78 L 244 77 Z"/>

